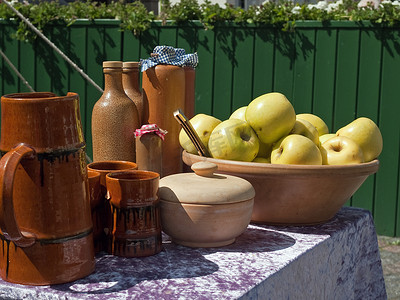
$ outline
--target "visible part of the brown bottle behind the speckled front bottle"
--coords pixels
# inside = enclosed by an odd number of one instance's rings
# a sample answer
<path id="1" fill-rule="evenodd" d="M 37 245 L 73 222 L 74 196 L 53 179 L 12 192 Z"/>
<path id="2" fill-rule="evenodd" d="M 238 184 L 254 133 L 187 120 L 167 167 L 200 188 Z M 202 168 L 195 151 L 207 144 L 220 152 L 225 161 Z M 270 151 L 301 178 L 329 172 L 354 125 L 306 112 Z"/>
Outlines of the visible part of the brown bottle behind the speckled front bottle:
<path id="1" fill-rule="evenodd" d="M 139 89 L 139 62 L 126 61 L 122 66 L 122 85 L 125 94 L 135 103 L 139 113 L 139 123 L 143 125 L 143 95 Z"/>

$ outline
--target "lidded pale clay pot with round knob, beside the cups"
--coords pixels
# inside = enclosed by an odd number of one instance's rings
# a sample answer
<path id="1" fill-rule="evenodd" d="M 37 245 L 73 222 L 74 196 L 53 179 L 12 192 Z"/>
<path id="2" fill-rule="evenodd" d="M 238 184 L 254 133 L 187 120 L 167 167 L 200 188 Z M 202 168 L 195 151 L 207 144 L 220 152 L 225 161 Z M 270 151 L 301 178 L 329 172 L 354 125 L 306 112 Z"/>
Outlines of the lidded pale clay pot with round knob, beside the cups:
<path id="1" fill-rule="evenodd" d="M 232 244 L 250 223 L 255 191 L 242 178 L 214 173 L 215 164 L 192 165 L 195 173 L 160 180 L 163 231 L 188 247 Z"/>

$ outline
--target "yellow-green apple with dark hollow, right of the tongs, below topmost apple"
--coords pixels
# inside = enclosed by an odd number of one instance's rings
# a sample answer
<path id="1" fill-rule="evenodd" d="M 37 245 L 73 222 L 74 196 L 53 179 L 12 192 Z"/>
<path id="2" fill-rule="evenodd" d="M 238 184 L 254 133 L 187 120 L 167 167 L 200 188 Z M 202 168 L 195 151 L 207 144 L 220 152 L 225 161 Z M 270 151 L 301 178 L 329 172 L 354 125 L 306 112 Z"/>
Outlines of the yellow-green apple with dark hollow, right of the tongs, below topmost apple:
<path id="1" fill-rule="evenodd" d="M 252 161 L 258 154 L 259 140 L 247 122 L 228 119 L 211 132 L 208 149 L 214 158 Z"/>

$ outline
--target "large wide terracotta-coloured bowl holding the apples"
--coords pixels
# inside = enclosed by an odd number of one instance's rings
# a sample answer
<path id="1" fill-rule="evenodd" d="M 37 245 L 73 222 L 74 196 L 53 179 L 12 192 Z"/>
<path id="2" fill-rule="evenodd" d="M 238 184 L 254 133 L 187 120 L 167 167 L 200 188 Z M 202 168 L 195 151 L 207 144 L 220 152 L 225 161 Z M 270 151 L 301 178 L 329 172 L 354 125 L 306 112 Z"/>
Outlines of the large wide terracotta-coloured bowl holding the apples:
<path id="1" fill-rule="evenodd" d="M 206 158 L 182 153 L 185 164 L 209 161 L 217 173 L 248 180 L 254 187 L 253 223 L 313 225 L 332 219 L 379 161 L 341 166 L 277 165 Z"/>

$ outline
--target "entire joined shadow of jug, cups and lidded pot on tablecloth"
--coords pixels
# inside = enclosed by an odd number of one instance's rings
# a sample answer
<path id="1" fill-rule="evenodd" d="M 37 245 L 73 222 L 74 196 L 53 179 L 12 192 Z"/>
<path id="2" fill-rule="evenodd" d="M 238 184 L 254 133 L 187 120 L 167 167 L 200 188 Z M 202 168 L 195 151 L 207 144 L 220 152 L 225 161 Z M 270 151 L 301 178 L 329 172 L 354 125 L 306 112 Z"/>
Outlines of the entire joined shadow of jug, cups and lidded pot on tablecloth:
<path id="1" fill-rule="evenodd" d="M 217 272 L 205 255 L 215 252 L 271 252 L 294 245 L 288 235 L 249 227 L 236 242 L 220 248 L 188 248 L 164 235 L 163 250 L 153 256 L 123 258 L 100 253 L 93 274 L 51 289 L 73 294 L 107 294 L 128 290 L 143 281 L 200 277 Z"/>

